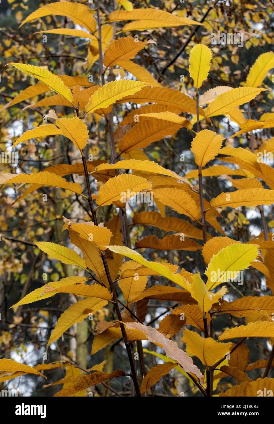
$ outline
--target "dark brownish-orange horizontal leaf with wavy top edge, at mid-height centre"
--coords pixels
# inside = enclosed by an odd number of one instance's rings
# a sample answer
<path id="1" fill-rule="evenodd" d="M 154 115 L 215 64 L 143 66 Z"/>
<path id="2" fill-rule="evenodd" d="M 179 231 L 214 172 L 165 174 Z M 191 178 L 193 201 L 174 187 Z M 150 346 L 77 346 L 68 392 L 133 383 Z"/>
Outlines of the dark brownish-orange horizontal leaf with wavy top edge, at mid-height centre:
<path id="1" fill-rule="evenodd" d="M 183 234 L 184 236 L 184 234 Z M 173 234 L 171 236 L 165 236 L 162 239 L 158 239 L 156 236 L 147 236 L 139 241 L 136 241 L 135 247 L 137 249 L 150 248 L 156 250 L 188 250 L 197 251 L 202 248 L 201 245 L 196 243 L 194 240 L 182 238 L 182 234 Z"/>

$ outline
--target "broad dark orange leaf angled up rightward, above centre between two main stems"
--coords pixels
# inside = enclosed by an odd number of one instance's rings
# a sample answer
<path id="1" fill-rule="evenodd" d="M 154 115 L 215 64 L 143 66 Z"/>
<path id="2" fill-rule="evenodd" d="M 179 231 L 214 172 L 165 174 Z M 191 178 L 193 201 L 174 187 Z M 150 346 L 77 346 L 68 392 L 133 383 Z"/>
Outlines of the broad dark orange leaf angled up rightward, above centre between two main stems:
<path id="1" fill-rule="evenodd" d="M 180 128 L 181 125 L 157 119 L 140 121 L 119 141 L 119 151 L 128 153 L 136 148 L 146 148 L 166 136 L 173 136 Z"/>

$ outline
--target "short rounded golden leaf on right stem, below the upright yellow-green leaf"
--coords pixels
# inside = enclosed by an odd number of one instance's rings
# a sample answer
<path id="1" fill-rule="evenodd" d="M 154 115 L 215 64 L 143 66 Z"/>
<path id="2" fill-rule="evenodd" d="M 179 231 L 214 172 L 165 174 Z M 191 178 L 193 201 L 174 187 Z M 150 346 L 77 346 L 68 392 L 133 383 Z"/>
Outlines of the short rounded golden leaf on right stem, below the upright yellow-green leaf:
<path id="1" fill-rule="evenodd" d="M 223 137 L 213 131 L 202 130 L 192 140 L 191 151 L 195 156 L 195 164 L 204 167 L 207 162 L 218 155 Z"/>

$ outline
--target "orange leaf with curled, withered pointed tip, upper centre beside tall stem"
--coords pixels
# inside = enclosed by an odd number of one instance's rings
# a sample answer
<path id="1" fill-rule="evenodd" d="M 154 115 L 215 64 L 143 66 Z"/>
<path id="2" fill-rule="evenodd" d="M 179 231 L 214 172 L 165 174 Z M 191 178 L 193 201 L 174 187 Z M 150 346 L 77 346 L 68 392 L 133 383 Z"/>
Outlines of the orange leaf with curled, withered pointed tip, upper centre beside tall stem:
<path id="1" fill-rule="evenodd" d="M 105 51 L 104 65 L 111 67 L 118 61 L 133 59 L 138 51 L 142 50 L 150 42 L 136 41 L 133 37 L 123 37 L 112 41 Z"/>

